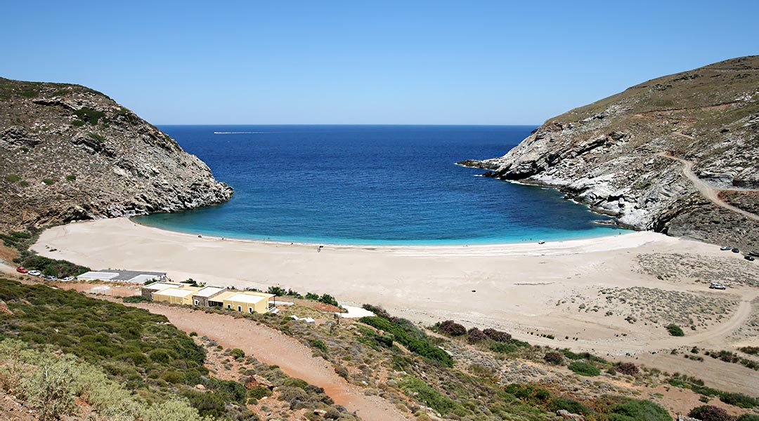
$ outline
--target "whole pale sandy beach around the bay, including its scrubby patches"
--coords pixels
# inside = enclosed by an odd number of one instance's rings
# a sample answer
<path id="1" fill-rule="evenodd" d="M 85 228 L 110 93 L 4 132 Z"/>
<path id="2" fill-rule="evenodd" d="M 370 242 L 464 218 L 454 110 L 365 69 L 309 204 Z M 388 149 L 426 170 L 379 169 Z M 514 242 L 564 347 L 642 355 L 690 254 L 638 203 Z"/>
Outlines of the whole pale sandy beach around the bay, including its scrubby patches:
<path id="1" fill-rule="evenodd" d="M 318 252 L 316 245 L 199 238 L 121 218 L 48 229 L 33 249 L 93 270 L 156 270 L 208 285 L 329 293 L 420 323 L 453 319 L 507 329 L 534 344 L 609 355 L 759 345 L 746 326 L 756 317 L 751 301 L 759 288 L 740 282 L 759 279 L 759 265 L 715 245 L 653 232 L 543 245 L 326 245 Z M 670 267 L 693 267 L 688 259 L 714 262 L 706 266 L 734 273 L 735 282 L 714 291 L 707 288 L 708 267 L 703 273 Z M 659 267 L 674 275 L 658 275 Z M 662 326 L 670 318 L 693 328 L 685 337 L 669 336 Z"/>

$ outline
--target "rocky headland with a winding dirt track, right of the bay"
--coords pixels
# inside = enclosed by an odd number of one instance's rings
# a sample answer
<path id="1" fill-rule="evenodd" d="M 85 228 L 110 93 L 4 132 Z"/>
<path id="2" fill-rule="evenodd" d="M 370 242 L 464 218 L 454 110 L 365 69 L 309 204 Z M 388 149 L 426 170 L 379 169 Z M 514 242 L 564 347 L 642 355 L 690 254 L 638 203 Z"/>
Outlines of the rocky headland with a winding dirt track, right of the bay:
<path id="1" fill-rule="evenodd" d="M 556 186 L 622 226 L 759 248 L 759 56 L 632 86 L 460 164 Z"/>

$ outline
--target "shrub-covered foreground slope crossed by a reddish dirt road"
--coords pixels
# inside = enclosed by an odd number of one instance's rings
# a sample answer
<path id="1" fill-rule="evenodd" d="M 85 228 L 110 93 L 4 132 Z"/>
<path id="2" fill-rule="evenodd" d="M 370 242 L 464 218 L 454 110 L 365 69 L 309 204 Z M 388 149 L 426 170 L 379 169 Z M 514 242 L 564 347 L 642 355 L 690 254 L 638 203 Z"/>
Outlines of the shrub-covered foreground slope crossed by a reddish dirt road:
<path id="1" fill-rule="evenodd" d="M 106 285 L 50 288 L 55 284 L 0 279 L 0 418 L 29 419 L 19 416 L 23 412 L 36 419 L 135 421 L 669 421 L 673 413 L 708 402 L 754 421 L 750 412 L 759 404 L 699 379 L 638 365 L 648 356 L 613 362 L 450 320 L 420 326 L 368 305 L 375 316 L 338 320 L 304 305 L 307 300 L 281 306 L 277 315 L 247 314 L 125 306 L 114 297 L 61 289 L 102 292 Z M 701 360 L 709 355 L 704 365 L 717 370 L 753 358 L 689 346 L 672 351 L 681 353 Z M 24 381 L 17 381 L 20 376 Z"/>

